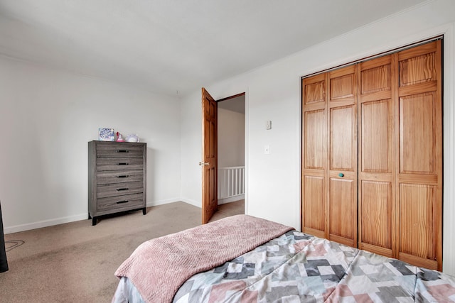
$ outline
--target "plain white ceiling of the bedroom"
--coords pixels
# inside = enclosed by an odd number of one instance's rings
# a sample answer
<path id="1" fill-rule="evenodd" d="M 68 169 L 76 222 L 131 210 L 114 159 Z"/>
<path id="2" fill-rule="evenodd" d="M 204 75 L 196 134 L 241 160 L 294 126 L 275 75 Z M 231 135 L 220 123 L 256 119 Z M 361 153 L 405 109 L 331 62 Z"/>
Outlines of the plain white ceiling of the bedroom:
<path id="1" fill-rule="evenodd" d="M 0 55 L 184 96 L 427 0 L 0 0 Z"/>

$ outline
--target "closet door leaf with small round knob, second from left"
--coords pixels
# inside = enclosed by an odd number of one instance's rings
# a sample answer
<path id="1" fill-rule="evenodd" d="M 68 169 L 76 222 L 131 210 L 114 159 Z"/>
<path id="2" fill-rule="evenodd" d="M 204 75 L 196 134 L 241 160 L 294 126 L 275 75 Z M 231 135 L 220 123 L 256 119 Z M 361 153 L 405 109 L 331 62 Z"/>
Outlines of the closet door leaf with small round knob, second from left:
<path id="1" fill-rule="evenodd" d="M 357 246 L 357 69 L 328 72 L 328 238 Z"/>

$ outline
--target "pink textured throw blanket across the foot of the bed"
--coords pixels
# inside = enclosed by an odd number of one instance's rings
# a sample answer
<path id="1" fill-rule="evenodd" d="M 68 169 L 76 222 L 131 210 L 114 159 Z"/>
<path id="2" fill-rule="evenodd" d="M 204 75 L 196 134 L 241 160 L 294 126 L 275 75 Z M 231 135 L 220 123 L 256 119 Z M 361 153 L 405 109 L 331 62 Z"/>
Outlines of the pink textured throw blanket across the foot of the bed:
<path id="1" fill-rule="evenodd" d="M 115 272 L 147 302 L 172 302 L 183 282 L 294 228 L 237 215 L 142 243 Z"/>

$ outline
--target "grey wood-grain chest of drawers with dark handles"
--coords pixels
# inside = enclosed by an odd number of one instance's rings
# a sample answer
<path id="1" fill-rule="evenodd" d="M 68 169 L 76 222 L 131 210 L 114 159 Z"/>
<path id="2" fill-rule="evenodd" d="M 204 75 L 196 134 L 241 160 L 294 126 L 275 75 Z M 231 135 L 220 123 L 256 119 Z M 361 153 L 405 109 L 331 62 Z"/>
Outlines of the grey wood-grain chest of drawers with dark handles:
<path id="1" fill-rule="evenodd" d="M 146 214 L 146 143 L 88 143 L 88 217 L 142 209 Z"/>

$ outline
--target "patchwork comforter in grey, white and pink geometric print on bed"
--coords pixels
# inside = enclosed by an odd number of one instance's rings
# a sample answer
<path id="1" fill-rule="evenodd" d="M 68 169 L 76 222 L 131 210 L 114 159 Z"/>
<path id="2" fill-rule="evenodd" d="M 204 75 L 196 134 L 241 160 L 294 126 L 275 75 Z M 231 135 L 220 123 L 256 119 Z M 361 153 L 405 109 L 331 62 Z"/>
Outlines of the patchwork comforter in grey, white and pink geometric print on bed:
<path id="1" fill-rule="evenodd" d="M 115 297 L 144 302 L 126 278 Z M 287 231 L 193 275 L 173 302 L 455 302 L 455 277 Z"/>

